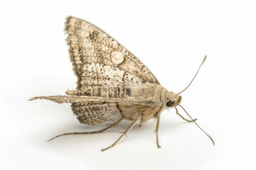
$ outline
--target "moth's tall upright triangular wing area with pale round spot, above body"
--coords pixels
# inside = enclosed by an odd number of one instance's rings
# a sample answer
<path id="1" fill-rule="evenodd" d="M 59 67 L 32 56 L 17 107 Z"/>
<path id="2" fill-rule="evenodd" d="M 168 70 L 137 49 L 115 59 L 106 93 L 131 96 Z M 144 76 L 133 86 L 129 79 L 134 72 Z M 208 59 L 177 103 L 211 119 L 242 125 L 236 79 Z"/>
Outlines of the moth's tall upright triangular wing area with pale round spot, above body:
<path id="1" fill-rule="evenodd" d="M 100 96 L 100 89 L 105 91 L 114 87 L 125 91 L 125 84 L 159 84 L 154 74 L 137 57 L 92 23 L 69 16 L 65 31 L 68 33 L 70 60 L 78 77 L 76 93 L 80 94 L 76 95 Z M 131 78 L 124 82 L 125 77 Z M 129 84 L 132 77 L 136 80 Z M 70 92 L 70 95 L 75 95 L 75 92 Z"/>

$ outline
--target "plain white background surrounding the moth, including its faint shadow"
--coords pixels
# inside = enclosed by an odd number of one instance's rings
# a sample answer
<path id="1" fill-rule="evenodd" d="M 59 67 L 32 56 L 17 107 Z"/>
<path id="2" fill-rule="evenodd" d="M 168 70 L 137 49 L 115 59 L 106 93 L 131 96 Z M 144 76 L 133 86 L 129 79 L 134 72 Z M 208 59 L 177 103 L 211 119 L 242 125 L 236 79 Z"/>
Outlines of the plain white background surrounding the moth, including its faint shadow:
<path id="1" fill-rule="evenodd" d="M 1 169 L 255 169 L 256 4 L 253 1 L 1 1 Z M 215 140 L 174 111 L 96 135 L 63 132 L 105 128 L 78 123 L 69 104 L 28 102 L 75 89 L 63 33 L 66 16 L 105 30 L 178 93 L 208 58 L 181 103 Z M 185 113 L 180 113 L 184 116 Z"/>

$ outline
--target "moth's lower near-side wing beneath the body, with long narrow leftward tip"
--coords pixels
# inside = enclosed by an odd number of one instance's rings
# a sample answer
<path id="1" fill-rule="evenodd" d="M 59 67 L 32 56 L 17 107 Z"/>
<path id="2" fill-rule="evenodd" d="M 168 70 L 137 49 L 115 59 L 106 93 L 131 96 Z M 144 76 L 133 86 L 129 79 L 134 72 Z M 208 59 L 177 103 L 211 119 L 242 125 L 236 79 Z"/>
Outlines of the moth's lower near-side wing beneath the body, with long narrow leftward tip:
<path id="1" fill-rule="evenodd" d="M 80 123 L 96 125 L 119 118 L 133 120 L 153 106 L 151 101 L 122 98 L 102 98 L 97 96 L 38 96 L 31 98 L 46 99 L 56 103 L 72 103 L 72 111 Z"/>

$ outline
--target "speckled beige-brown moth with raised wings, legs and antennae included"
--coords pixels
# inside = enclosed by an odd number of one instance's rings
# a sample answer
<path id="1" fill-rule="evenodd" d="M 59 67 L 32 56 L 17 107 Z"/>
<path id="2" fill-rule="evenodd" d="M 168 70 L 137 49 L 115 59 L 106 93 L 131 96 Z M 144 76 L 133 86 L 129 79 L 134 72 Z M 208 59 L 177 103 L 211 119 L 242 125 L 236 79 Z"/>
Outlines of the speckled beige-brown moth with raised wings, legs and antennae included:
<path id="1" fill-rule="evenodd" d="M 114 121 L 114 123 L 102 130 L 64 133 L 50 140 L 63 135 L 100 133 L 113 128 L 122 120 L 131 121 L 129 127 L 110 147 L 101 149 L 103 152 L 114 147 L 137 122 L 141 126 L 147 120 L 154 118 L 157 120 L 156 145 L 160 148 L 158 135 L 160 114 L 165 108 L 175 108 L 176 113 L 183 118 L 176 107 L 183 108 L 180 105 L 182 100 L 180 94 L 191 83 L 178 94 L 167 91 L 137 57 L 103 30 L 80 18 L 68 16 L 65 32 L 68 33 L 67 43 L 73 71 L 78 77 L 77 89 L 66 91 L 66 96 L 38 96 L 30 100 L 46 99 L 57 103 L 71 103 L 72 111 L 80 123 L 89 125 L 97 125 L 105 121 Z M 206 57 L 203 62 L 205 60 Z M 191 118 L 190 115 L 188 116 Z M 183 118 L 183 120 L 196 123 L 192 118 L 191 120 Z M 211 137 L 210 140 L 213 142 Z"/>

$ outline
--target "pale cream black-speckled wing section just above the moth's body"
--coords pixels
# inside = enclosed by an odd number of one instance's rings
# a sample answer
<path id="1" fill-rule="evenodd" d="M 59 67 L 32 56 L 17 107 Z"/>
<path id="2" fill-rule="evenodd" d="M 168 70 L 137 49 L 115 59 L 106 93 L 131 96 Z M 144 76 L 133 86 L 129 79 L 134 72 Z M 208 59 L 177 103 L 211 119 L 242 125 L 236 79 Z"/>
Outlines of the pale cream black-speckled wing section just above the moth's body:
<path id="1" fill-rule="evenodd" d="M 100 96 L 105 98 L 132 98 L 132 91 L 137 91 L 145 82 L 139 77 L 122 69 L 100 63 L 84 64 L 81 88 L 67 91 L 72 96 Z"/>

